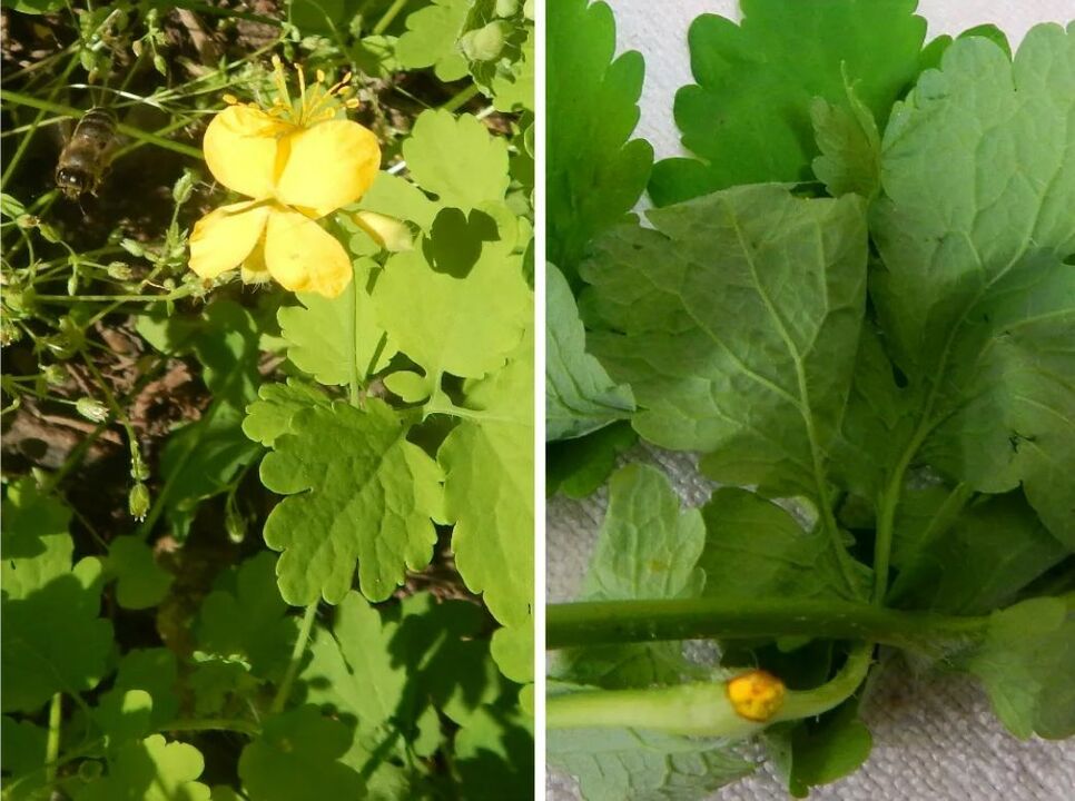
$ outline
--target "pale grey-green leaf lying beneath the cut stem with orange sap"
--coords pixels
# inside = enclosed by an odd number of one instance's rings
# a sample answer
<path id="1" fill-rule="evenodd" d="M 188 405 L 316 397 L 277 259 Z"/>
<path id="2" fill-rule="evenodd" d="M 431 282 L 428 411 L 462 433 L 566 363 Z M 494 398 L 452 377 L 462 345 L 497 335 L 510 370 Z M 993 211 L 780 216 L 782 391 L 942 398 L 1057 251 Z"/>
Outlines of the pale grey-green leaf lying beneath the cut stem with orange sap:
<path id="1" fill-rule="evenodd" d="M 753 770 L 721 741 L 630 729 L 551 730 L 546 758 L 586 801 L 703 798 Z"/>

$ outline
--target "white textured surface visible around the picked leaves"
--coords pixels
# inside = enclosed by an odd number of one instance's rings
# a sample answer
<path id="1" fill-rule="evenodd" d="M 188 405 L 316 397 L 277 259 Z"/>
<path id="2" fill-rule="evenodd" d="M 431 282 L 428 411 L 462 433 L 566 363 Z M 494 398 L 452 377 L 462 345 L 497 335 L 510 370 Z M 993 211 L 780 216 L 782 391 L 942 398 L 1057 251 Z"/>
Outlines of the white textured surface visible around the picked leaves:
<path id="1" fill-rule="evenodd" d="M 549 0 L 550 4 L 556 0 Z M 809 1 L 809 0 L 802 0 Z M 736 0 L 609 0 L 618 50 L 645 57 L 642 117 L 635 136 L 658 159 L 682 155 L 672 119 L 675 90 L 693 82 L 687 29 L 700 13 L 739 19 Z M 1075 0 L 920 0 L 927 41 L 984 22 L 1007 32 L 1013 48 L 1039 21 L 1075 18 Z M 635 448 L 631 461 L 660 464 L 690 505 L 708 500 L 711 485 L 689 455 Z M 569 601 L 579 590 L 604 515 L 602 490 L 583 502 L 549 504 L 548 596 Z M 913 676 L 894 664 L 868 695 L 864 715 L 874 751 L 856 774 L 811 793 L 818 801 L 1069 801 L 1075 800 L 1075 743 L 1019 742 L 996 721 L 982 690 L 961 678 Z M 550 772 L 548 798 L 578 798 L 573 782 Z M 776 801 L 788 795 L 765 770 L 730 785 L 721 801 Z"/>

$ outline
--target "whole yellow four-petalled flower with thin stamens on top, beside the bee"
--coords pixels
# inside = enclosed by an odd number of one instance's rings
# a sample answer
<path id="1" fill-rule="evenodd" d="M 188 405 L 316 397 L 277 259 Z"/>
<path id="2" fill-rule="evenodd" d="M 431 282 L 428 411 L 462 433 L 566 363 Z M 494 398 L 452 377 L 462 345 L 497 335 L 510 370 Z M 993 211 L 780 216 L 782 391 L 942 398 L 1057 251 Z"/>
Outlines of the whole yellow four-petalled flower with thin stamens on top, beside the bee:
<path id="1" fill-rule="evenodd" d="M 209 171 L 252 200 L 198 220 L 190 235 L 190 269 L 210 279 L 240 267 L 247 283 L 273 278 L 293 291 L 336 297 L 351 281 L 351 258 L 315 220 L 369 189 L 381 147 L 368 129 L 335 119 L 338 103 L 332 98 L 343 93 L 349 76 L 326 89 L 318 72 L 307 91 L 299 69 L 300 95 L 293 105 L 279 59 L 273 61 L 275 103 L 229 106 L 206 130 Z"/>

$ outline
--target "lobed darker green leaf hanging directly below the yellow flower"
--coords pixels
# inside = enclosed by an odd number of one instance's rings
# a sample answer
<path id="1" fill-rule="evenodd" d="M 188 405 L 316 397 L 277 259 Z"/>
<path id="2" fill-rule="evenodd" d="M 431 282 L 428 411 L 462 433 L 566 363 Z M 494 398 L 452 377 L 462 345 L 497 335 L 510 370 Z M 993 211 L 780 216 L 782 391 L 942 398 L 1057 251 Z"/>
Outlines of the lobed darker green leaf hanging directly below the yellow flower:
<path id="1" fill-rule="evenodd" d="M 293 497 L 265 523 L 282 551 L 276 572 L 284 600 L 338 603 L 358 576 L 382 601 L 432 554 L 442 513 L 441 472 L 407 442 L 407 427 L 382 400 L 364 409 L 341 403 L 299 412 L 262 462 L 262 483 Z"/>

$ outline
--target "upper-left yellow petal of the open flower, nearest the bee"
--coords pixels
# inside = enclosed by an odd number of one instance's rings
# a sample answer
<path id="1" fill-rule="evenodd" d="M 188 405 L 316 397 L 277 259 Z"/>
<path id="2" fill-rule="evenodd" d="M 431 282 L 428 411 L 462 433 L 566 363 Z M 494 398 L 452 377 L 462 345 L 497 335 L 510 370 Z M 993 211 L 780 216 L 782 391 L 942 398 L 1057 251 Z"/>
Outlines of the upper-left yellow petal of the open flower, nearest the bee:
<path id="1" fill-rule="evenodd" d="M 273 194 L 278 141 L 293 129 L 260 109 L 229 106 L 206 129 L 205 161 L 228 189 L 260 200 Z"/>

